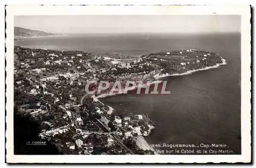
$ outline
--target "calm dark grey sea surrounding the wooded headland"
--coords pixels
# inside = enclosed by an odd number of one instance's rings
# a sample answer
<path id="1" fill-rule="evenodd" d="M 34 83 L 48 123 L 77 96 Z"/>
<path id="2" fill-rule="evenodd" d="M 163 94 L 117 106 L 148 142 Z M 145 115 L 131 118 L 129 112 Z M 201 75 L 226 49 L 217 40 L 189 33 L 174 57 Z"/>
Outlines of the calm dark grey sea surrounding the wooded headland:
<path id="1" fill-rule="evenodd" d="M 164 77 L 162 80 L 167 80 L 166 90 L 170 94 L 120 94 L 100 101 L 112 106 L 117 113 L 126 109 L 148 116 L 156 127 L 145 137 L 150 145 L 194 144 L 200 148 L 201 144 L 214 143 L 226 145 L 225 150 L 232 151 L 231 154 L 241 154 L 240 33 L 71 34 L 24 38 L 24 41 L 15 41 L 15 45 L 92 53 L 120 52 L 133 57 L 182 49 L 219 54 L 226 59 L 226 65 L 185 76 Z"/>

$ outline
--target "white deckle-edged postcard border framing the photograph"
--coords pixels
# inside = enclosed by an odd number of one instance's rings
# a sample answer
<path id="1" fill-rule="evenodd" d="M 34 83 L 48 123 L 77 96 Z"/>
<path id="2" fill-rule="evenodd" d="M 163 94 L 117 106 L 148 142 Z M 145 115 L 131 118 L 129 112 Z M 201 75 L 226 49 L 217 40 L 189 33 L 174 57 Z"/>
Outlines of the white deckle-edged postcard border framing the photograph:
<path id="1" fill-rule="evenodd" d="M 7 162 L 8 163 L 206 163 L 250 162 L 250 7 L 236 6 L 7 6 Z M 241 15 L 242 155 L 13 155 L 14 15 Z"/>

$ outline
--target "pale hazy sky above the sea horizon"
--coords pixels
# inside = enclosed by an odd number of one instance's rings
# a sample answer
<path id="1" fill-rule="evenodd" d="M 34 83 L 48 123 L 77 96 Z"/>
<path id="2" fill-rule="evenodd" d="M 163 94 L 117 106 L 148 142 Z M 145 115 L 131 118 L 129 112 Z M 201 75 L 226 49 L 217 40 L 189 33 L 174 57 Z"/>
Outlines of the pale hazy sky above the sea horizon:
<path id="1" fill-rule="evenodd" d="M 15 16 L 14 26 L 49 33 L 240 32 L 239 15 L 33 15 Z"/>

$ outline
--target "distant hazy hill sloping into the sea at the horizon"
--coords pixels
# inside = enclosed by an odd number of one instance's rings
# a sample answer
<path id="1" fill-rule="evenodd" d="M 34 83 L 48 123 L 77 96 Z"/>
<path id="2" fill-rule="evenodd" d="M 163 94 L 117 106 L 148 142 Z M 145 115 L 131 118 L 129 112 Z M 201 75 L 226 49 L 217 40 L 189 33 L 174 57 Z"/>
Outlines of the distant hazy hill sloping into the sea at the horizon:
<path id="1" fill-rule="evenodd" d="M 55 35 L 59 35 L 59 34 L 14 27 L 14 37 L 41 37 L 41 36 L 55 36 Z"/>

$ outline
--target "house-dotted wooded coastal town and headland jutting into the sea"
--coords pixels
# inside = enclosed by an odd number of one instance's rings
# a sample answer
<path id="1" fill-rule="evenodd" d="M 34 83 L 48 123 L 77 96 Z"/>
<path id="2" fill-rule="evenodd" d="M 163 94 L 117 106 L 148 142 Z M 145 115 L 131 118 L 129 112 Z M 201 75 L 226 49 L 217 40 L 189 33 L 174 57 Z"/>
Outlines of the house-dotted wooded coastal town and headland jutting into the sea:
<path id="1" fill-rule="evenodd" d="M 95 54 L 14 47 L 14 113 L 40 125 L 40 138 L 53 143 L 59 154 L 156 154 L 141 145 L 154 123 L 145 115 L 115 111 L 99 101 L 116 81 L 153 82 L 222 63 L 218 55 L 179 50 L 143 55 Z M 108 81 L 109 89 L 88 94 L 91 81 Z M 98 83 L 89 90 L 98 90 Z"/>

